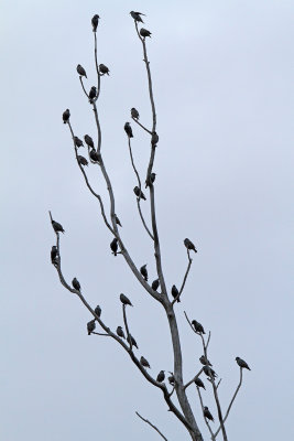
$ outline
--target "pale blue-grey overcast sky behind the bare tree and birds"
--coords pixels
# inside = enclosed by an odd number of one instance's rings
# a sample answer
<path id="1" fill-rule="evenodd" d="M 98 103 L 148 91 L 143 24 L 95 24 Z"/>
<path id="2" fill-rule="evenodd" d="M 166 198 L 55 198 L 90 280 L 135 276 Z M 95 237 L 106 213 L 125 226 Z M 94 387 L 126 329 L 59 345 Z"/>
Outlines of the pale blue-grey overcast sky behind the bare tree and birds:
<path id="1" fill-rule="evenodd" d="M 77 277 L 106 323 L 122 325 L 119 293 L 133 302 L 132 334 L 154 377 L 173 369 L 162 309 L 110 254 L 112 237 L 85 187 L 62 112 L 80 138 L 96 139 L 76 65 L 95 85 L 90 19 L 101 17 L 99 62 L 110 68 L 99 100 L 102 152 L 122 237 L 155 279 L 152 243 L 137 212 L 123 125 L 137 107 L 150 127 L 142 50 L 131 10 L 146 14 L 160 143 L 154 171 L 167 287 L 186 268 L 183 239 L 198 248 L 176 305 L 184 378 L 199 369 L 200 342 L 184 311 L 211 331 L 209 359 L 222 378 L 226 410 L 238 384 L 235 357 L 251 372 L 227 424 L 229 440 L 293 439 L 293 12 L 294 2 L 1 1 L 1 428 L 4 441 L 188 439 L 109 338 L 88 336 L 91 319 L 50 262 L 48 209 L 66 230 L 63 271 Z M 132 125 L 134 126 L 134 125 Z M 142 179 L 149 139 L 133 127 Z M 94 186 L 106 201 L 97 166 Z M 149 203 L 142 203 L 150 222 Z M 207 380 L 205 380 L 207 383 Z M 204 401 L 217 411 L 207 383 Z M 209 440 L 196 390 L 188 397 Z"/>

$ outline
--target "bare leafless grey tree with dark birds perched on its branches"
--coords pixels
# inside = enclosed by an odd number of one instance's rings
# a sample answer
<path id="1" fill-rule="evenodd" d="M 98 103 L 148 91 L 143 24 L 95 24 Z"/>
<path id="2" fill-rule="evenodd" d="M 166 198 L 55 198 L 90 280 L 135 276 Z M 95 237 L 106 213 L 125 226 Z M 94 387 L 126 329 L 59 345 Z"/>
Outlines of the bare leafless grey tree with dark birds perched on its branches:
<path id="1" fill-rule="evenodd" d="M 226 410 L 226 412 L 222 411 L 221 405 L 220 405 L 220 399 L 218 395 L 218 388 L 220 385 L 220 379 L 217 380 L 217 374 L 211 367 L 211 363 L 208 359 L 208 346 L 210 342 L 210 332 L 208 333 L 207 338 L 205 338 L 204 335 L 206 335 L 205 330 L 203 325 L 197 322 L 196 320 L 189 320 L 187 314 L 187 323 L 189 324 L 192 331 L 195 333 L 195 336 L 197 338 L 200 338 L 202 344 L 203 344 L 203 356 L 200 357 L 200 363 L 203 367 L 199 369 L 198 373 L 195 374 L 195 376 L 187 383 L 184 381 L 183 378 L 183 359 L 182 359 L 182 348 L 181 348 L 181 340 L 179 340 L 179 332 L 178 332 L 178 326 L 177 326 L 177 319 L 176 319 L 176 304 L 179 302 L 179 299 L 183 294 L 185 283 L 188 277 L 188 273 L 192 268 L 193 259 L 192 259 L 192 254 L 197 252 L 197 249 L 195 245 L 193 244 L 192 240 L 186 238 L 184 240 L 184 247 L 183 249 L 186 249 L 187 254 L 187 269 L 186 272 L 183 277 L 183 282 L 177 289 L 175 286 L 173 286 L 171 293 L 167 291 L 166 288 L 166 281 L 165 281 L 165 276 L 163 272 L 162 268 L 162 254 L 161 254 L 161 245 L 160 245 L 160 237 L 159 237 L 159 230 L 157 230 L 157 222 L 156 222 L 156 212 L 155 212 L 155 173 L 153 172 L 153 165 L 154 165 L 154 160 L 155 160 L 155 153 L 156 153 L 156 147 L 159 143 L 159 136 L 156 132 L 156 109 L 155 109 L 155 101 L 154 101 L 154 94 L 153 94 L 153 86 L 152 86 L 152 77 L 151 77 L 151 69 L 150 69 L 150 61 L 148 57 L 148 51 L 146 51 L 146 40 L 148 37 L 151 36 L 151 32 L 144 28 L 139 29 L 139 24 L 142 22 L 142 13 L 140 12 L 134 12 L 132 11 L 131 17 L 134 22 L 134 30 L 135 34 L 139 39 L 140 44 L 142 45 L 142 51 L 143 51 L 143 61 L 145 64 L 145 69 L 146 69 L 146 76 L 148 76 L 148 89 L 149 89 L 149 96 L 150 96 L 150 105 L 151 105 L 151 110 L 152 110 L 152 123 L 151 127 L 149 127 L 145 123 L 142 123 L 139 118 L 139 111 L 135 108 L 131 109 L 131 119 L 132 121 L 138 125 L 142 130 L 144 130 L 149 138 L 150 138 L 150 159 L 149 163 L 146 164 L 146 174 L 145 174 L 145 189 L 149 191 L 149 203 L 150 203 L 150 213 L 151 213 L 151 226 L 148 225 L 142 209 L 141 209 L 141 202 L 146 201 L 146 196 L 143 193 L 143 185 L 142 185 L 142 179 L 140 176 L 140 173 L 138 172 L 138 169 L 134 163 L 133 154 L 132 154 L 132 128 L 130 122 L 126 122 L 124 125 L 124 131 L 127 136 L 127 143 L 129 148 L 129 153 L 130 153 L 130 160 L 131 164 L 133 168 L 133 172 L 135 174 L 137 179 L 137 185 L 134 187 L 134 195 L 137 197 L 137 206 L 139 211 L 140 218 L 142 220 L 142 226 L 145 229 L 146 234 L 149 235 L 151 239 L 151 246 L 154 248 L 154 257 L 155 257 L 155 265 L 156 265 L 156 272 L 157 272 L 157 279 L 155 279 L 153 282 L 149 281 L 149 275 L 148 275 L 148 269 L 146 266 L 142 266 L 139 268 L 129 251 L 128 245 L 124 244 L 122 239 L 122 235 L 119 230 L 120 220 L 119 217 L 117 216 L 116 212 L 116 198 L 115 198 L 115 193 L 112 190 L 112 184 L 111 180 L 109 178 L 109 173 L 106 169 L 106 164 L 104 162 L 104 155 L 102 155 L 102 143 L 101 143 L 101 127 L 100 127 L 100 120 L 99 120 L 99 115 L 98 115 L 98 100 L 100 96 L 100 89 L 101 89 L 101 76 L 109 75 L 109 68 L 104 65 L 98 63 L 98 54 L 97 54 L 97 29 L 99 24 L 99 15 L 96 14 L 91 19 L 91 25 L 92 25 L 92 31 L 94 31 L 94 42 L 95 42 L 95 65 L 96 65 L 96 73 L 97 73 L 97 85 L 92 86 L 87 93 L 86 87 L 84 85 L 84 78 L 87 78 L 87 73 L 85 68 L 80 65 L 77 65 L 77 73 L 79 75 L 79 80 L 80 80 L 80 86 L 84 90 L 86 99 L 89 101 L 89 105 L 91 106 L 94 110 L 94 116 L 95 116 L 95 121 L 97 126 L 97 141 L 94 142 L 92 138 L 89 135 L 86 135 L 84 137 L 85 144 L 88 150 L 88 159 L 79 154 L 79 148 L 84 144 L 84 141 L 76 136 L 74 126 L 70 122 L 70 111 L 69 109 L 66 109 L 63 114 L 63 121 L 65 125 L 67 125 L 72 140 L 73 140 L 73 149 L 74 149 L 74 154 L 76 158 L 77 165 L 80 170 L 80 173 L 84 176 L 85 184 L 88 187 L 89 192 L 92 194 L 92 196 L 97 200 L 99 206 L 100 206 L 100 212 L 101 216 L 104 218 L 106 227 L 111 232 L 113 239 L 111 240 L 110 244 L 110 249 L 113 252 L 115 256 L 120 255 L 123 257 L 126 262 L 128 263 L 130 270 L 134 275 L 135 279 L 138 282 L 141 284 L 141 287 L 145 290 L 146 294 L 152 297 L 154 300 L 156 300 L 159 308 L 163 308 L 166 314 L 166 320 L 170 325 L 170 331 L 171 331 L 171 338 L 172 338 L 172 346 L 173 346 L 173 359 L 174 359 L 174 366 L 173 366 L 173 372 L 171 373 L 171 376 L 168 376 L 168 384 L 165 383 L 165 372 L 161 370 L 156 377 L 151 375 L 148 372 L 148 368 L 150 368 L 149 361 L 141 356 L 140 358 L 135 355 L 134 348 L 138 347 L 137 342 L 134 337 L 130 333 L 130 326 L 128 324 L 128 318 L 127 318 L 127 309 L 128 306 L 131 306 L 132 303 L 131 301 L 124 295 L 120 295 L 120 301 L 122 303 L 122 318 L 123 318 L 123 324 L 124 324 L 124 330 L 121 326 L 118 326 L 116 331 L 112 331 L 107 323 L 101 319 L 101 308 L 97 305 L 96 308 L 92 308 L 86 300 L 84 293 L 81 294 L 81 288 L 79 281 L 74 278 L 72 281 L 72 286 L 69 284 L 68 281 L 66 281 L 63 270 L 62 270 L 62 255 L 61 255 L 61 233 L 65 233 L 63 226 L 57 223 L 56 220 L 53 219 L 52 214 L 50 212 L 50 217 L 52 222 L 53 229 L 56 234 L 56 245 L 52 247 L 51 251 L 51 260 L 54 267 L 56 268 L 56 271 L 58 273 L 61 283 L 66 288 L 68 291 L 70 291 L 73 294 L 78 295 L 80 299 L 81 303 L 88 309 L 90 312 L 92 319 L 87 323 L 87 331 L 88 334 L 95 334 L 98 336 L 109 336 L 113 338 L 117 344 L 122 348 L 122 351 L 126 351 L 127 354 L 129 355 L 131 362 L 137 366 L 137 368 L 141 372 L 142 376 L 152 385 L 153 387 L 156 387 L 157 389 L 161 389 L 163 399 L 165 400 L 168 410 L 178 419 L 178 421 L 184 424 L 184 427 L 187 430 L 187 433 L 189 434 L 190 439 L 194 441 L 203 441 L 204 435 L 202 434 L 198 426 L 198 420 L 199 418 L 204 418 L 205 423 L 207 424 L 210 439 L 216 440 L 218 434 L 222 434 L 222 439 L 225 441 L 228 440 L 227 435 L 227 430 L 226 430 L 226 422 L 227 418 L 229 416 L 231 406 L 236 399 L 236 396 L 241 387 L 242 384 L 242 369 L 243 368 L 249 368 L 246 362 L 241 361 L 239 357 L 237 357 L 237 363 L 240 367 L 240 381 L 238 384 L 238 387 L 232 396 L 232 399 Z M 109 215 L 106 213 L 105 209 L 105 203 L 99 193 L 97 193 L 94 189 L 92 185 L 88 179 L 87 172 L 85 166 L 88 164 L 91 164 L 91 166 L 97 166 L 100 169 L 106 185 L 108 190 L 108 196 L 109 196 L 109 203 L 110 203 L 110 213 Z M 84 291 L 83 291 L 84 292 Z M 172 297 L 171 297 L 171 295 Z M 96 326 L 99 326 L 100 331 L 97 332 Z M 240 362 L 241 361 L 241 362 Z M 218 419 L 218 428 L 213 429 L 211 424 L 209 421 L 214 421 L 214 416 L 209 411 L 208 407 L 205 406 L 204 404 L 204 398 L 200 392 L 200 389 L 203 388 L 206 390 L 206 387 L 203 383 L 203 379 L 206 377 L 207 379 L 207 386 L 211 386 L 211 392 L 216 402 L 216 408 L 217 408 L 217 419 Z M 195 385 L 196 386 L 196 391 L 199 398 L 199 402 L 202 406 L 202 413 L 200 415 L 194 415 L 192 410 L 190 402 L 187 398 L 186 390 L 189 386 Z M 207 394 L 207 390 L 206 390 Z M 164 439 L 166 440 L 166 437 L 162 434 L 160 429 L 157 429 L 153 423 L 151 423 L 148 419 L 143 418 L 139 412 L 137 415 L 145 421 L 150 427 L 152 427 L 156 432 Z"/>

